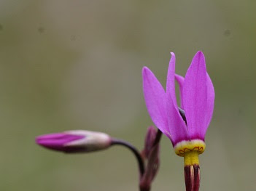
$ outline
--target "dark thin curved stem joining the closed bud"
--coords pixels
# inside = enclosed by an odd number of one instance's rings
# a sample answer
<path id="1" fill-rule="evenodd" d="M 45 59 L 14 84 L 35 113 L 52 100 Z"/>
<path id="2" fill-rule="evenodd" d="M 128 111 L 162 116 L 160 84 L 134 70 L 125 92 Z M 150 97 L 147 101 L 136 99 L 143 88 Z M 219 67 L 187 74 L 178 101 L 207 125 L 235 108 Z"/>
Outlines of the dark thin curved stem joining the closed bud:
<path id="1" fill-rule="evenodd" d="M 141 155 L 139 154 L 139 151 L 136 149 L 136 147 L 134 147 L 133 145 L 131 145 L 131 143 L 129 142 L 125 142 L 124 140 L 121 139 L 112 139 L 112 143 L 111 145 L 122 145 L 127 147 L 129 150 L 131 150 L 131 152 L 135 155 L 138 164 L 139 164 L 139 172 L 141 174 L 141 176 L 144 174 L 144 161 L 141 158 Z"/>

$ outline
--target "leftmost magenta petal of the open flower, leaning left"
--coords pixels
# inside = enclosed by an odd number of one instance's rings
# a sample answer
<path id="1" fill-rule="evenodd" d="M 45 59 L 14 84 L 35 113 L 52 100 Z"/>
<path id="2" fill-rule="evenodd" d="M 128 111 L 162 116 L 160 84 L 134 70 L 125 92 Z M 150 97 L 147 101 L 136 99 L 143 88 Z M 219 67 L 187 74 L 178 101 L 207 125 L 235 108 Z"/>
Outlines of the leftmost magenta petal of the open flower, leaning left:
<path id="1" fill-rule="evenodd" d="M 143 92 L 147 110 L 155 126 L 168 136 L 168 120 L 166 114 L 166 92 L 152 71 L 142 69 Z M 169 137 L 169 136 L 168 136 Z M 170 137 L 169 137 L 170 138 Z"/>

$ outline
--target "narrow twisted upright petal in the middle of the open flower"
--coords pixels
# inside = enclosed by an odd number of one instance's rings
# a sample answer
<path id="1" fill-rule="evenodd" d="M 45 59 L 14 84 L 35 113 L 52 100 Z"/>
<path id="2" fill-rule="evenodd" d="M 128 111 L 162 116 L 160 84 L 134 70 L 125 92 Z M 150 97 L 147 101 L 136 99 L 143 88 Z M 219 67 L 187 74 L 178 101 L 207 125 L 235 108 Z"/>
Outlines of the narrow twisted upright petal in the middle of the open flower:
<path id="1" fill-rule="evenodd" d="M 166 82 L 166 96 L 167 96 L 167 115 L 169 133 L 171 134 L 171 142 L 176 145 L 177 142 L 188 140 L 188 132 L 185 121 L 179 114 L 177 99 L 175 94 L 175 54 L 171 52 L 171 60 L 168 67 L 167 82 Z"/>

